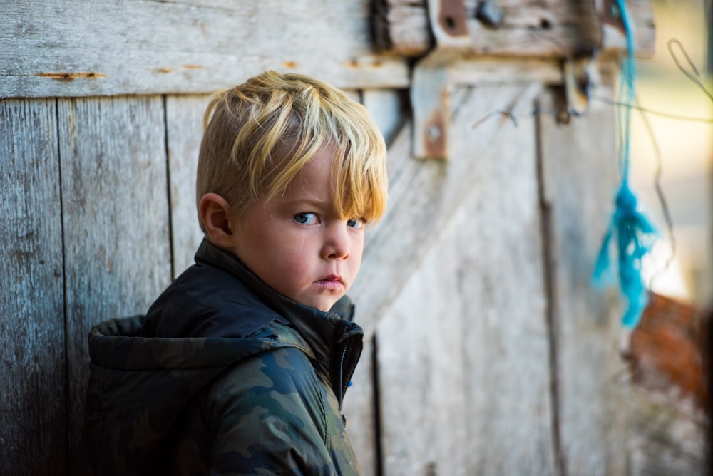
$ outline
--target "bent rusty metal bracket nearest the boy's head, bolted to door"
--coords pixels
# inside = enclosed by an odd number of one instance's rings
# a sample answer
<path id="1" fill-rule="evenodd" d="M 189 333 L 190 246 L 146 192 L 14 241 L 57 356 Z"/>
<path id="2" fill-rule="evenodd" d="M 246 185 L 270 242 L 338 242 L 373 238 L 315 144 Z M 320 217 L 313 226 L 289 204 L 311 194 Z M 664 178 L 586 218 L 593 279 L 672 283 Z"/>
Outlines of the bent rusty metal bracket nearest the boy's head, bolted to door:
<path id="1" fill-rule="evenodd" d="M 448 66 L 470 46 L 463 0 L 429 0 L 429 21 L 436 48 L 414 67 L 412 153 L 421 159 L 448 158 Z"/>

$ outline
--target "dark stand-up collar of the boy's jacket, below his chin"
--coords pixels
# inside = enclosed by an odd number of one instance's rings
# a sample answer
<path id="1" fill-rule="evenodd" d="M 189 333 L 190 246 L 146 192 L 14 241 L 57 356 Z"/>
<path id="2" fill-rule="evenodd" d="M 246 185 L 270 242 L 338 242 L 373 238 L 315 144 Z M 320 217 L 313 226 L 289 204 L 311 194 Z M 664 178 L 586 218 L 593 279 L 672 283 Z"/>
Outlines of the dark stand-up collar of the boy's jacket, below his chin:
<path id="1" fill-rule="evenodd" d="M 351 321 L 354 306 L 346 296 L 334 304 L 329 312 L 299 304 L 279 294 L 252 273 L 234 254 L 216 247 L 207 239 L 203 239 L 198 247 L 195 262 L 221 269 L 239 279 L 265 306 L 294 326 L 319 360 L 332 361 L 337 342 L 343 341 L 345 336 L 362 334 L 361 328 Z"/>

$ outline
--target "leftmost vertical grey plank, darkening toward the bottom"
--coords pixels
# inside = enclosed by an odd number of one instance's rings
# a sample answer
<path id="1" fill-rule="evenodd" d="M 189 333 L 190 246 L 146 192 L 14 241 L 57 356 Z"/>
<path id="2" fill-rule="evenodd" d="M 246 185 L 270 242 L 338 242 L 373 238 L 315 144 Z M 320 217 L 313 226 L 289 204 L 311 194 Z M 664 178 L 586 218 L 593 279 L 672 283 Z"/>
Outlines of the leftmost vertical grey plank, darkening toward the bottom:
<path id="1" fill-rule="evenodd" d="M 54 100 L 0 101 L 0 474 L 64 474 L 61 197 Z"/>

